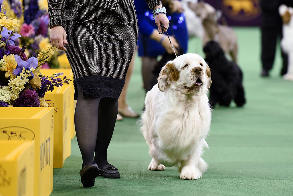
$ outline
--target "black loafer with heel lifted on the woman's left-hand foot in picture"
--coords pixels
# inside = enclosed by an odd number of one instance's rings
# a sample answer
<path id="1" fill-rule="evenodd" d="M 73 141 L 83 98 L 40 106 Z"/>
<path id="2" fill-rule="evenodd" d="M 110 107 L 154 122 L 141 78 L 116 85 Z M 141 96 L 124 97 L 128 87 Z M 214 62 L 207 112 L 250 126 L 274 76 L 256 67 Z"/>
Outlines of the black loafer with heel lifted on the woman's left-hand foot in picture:
<path id="1" fill-rule="evenodd" d="M 82 185 L 84 187 L 92 187 L 95 185 L 95 180 L 99 173 L 100 170 L 96 163 L 90 163 L 84 166 L 84 168 L 82 168 L 79 172 Z"/>

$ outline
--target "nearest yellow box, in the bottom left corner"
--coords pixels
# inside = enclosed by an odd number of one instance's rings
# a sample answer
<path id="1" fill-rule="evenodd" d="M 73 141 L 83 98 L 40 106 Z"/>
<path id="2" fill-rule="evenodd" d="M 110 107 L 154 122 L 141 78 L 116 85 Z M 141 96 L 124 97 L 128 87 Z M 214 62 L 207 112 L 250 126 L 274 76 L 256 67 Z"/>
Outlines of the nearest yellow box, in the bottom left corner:
<path id="1" fill-rule="evenodd" d="M 0 141 L 0 195 L 34 195 L 34 141 Z"/>

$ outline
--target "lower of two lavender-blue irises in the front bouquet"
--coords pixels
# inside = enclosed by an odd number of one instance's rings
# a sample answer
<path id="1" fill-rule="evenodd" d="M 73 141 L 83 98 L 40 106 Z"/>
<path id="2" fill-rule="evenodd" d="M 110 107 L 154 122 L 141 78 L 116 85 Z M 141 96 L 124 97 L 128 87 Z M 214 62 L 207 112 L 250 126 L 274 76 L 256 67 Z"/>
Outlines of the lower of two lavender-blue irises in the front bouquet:
<path id="1" fill-rule="evenodd" d="M 30 71 L 31 68 L 38 67 L 38 59 L 35 57 L 31 57 L 27 61 L 23 61 L 18 55 L 15 55 L 14 58 L 17 62 L 17 67 L 13 70 L 13 75 L 18 75 L 23 70 L 23 68 Z M 32 72 L 30 72 L 30 74 L 32 75 L 32 77 L 35 76 Z"/>

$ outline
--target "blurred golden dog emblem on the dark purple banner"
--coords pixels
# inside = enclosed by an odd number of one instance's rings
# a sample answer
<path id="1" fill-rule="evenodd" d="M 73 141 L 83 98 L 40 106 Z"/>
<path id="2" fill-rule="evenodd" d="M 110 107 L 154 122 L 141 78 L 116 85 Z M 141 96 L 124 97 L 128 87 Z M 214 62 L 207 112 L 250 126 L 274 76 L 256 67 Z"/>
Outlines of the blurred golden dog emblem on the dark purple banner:
<path id="1" fill-rule="evenodd" d="M 249 21 L 260 15 L 259 0 L 223 0 L 222 10 L 236 21 Z"/>

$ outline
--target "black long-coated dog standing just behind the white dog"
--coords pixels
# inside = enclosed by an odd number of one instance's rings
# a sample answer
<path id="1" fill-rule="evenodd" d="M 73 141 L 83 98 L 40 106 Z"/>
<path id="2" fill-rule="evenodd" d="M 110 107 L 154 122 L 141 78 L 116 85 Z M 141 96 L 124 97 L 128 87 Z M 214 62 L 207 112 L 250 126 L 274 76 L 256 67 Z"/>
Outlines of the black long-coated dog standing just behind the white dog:
<path id="1" fill-rule="evenodd" d="M 211 107 L 217 103 L 228 107 L 232 100 L 237 107 L 242 107 L 246 103 L 246 99 L 242 85 L 243 73 L 240 67 L 226 58 L 219 43 L 215 41 L 209 41 L 203 50 L 213 81 L 209 94 Z"/>

